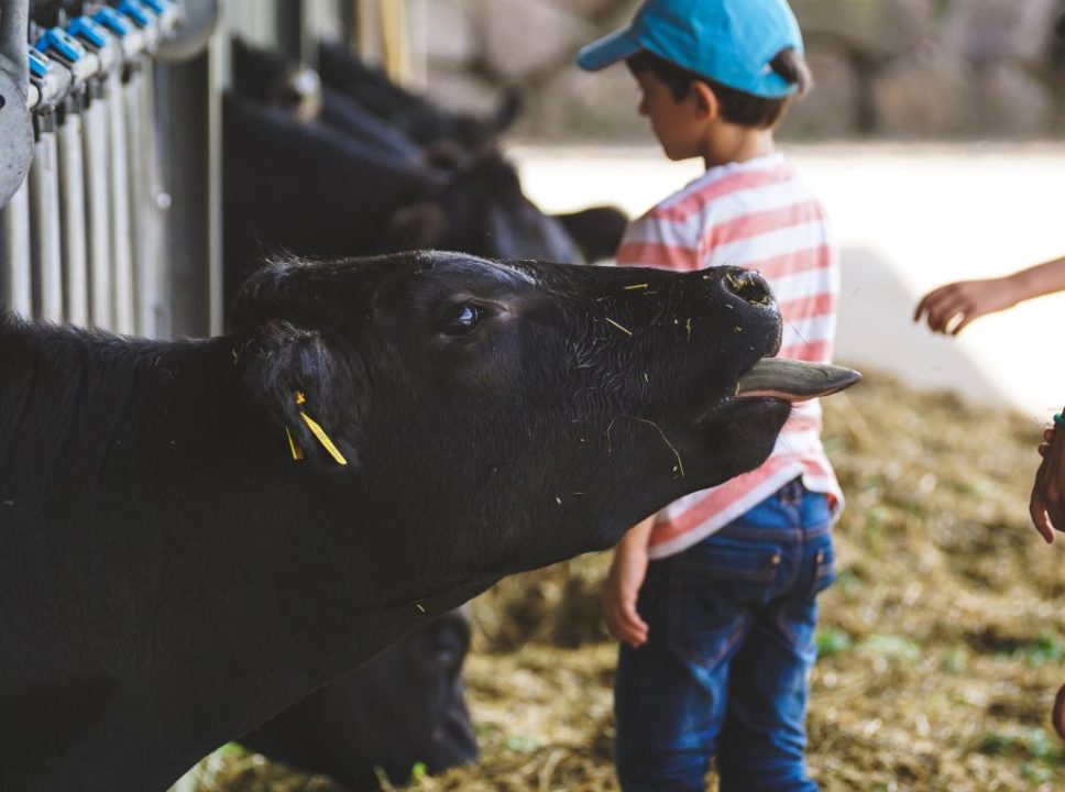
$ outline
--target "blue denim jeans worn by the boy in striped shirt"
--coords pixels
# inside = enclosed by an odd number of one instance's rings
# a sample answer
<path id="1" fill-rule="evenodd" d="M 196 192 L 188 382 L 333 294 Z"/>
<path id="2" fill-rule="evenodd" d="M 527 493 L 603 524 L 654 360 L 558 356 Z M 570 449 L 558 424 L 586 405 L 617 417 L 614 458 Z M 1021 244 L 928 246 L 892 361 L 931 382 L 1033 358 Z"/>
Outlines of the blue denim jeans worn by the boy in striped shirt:
<path id="1" fill-rule="evenodd" d="M 835 580 L 827 498 L 799 480 L 651 562 L 623 646 L 615 762 L 625 792 L 811 792 L 803 759 L 819 592 Z"/>

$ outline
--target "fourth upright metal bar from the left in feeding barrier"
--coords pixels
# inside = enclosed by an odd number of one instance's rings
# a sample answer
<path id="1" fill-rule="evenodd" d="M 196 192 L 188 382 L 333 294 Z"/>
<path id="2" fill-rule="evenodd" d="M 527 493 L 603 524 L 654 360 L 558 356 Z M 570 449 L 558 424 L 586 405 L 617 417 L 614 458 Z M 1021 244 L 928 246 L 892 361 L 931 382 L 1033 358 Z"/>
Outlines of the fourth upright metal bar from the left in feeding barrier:
<path id="1" fill-rule="evenodd" d="M 114 317 L 111 309 L 111 218 L 110 218 L 110 145 L 108 108 L 102 80 L 89 86 L 89 105 L 83 113 L 83 153 L 85 157 L 85 199 L 87 212 L 87 250 L 89 266 L 89 316 L 94 327 L 109 329 Z"/>

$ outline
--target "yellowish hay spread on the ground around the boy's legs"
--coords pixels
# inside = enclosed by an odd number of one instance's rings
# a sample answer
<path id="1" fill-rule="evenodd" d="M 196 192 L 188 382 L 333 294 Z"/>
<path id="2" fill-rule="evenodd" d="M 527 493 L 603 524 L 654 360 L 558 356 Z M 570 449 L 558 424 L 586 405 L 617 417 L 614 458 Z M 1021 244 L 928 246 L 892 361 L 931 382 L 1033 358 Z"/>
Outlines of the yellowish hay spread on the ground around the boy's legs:
<path id="1" fill-rule="evenodd" d="M 1041 427 L 880 375 L 825 414 L 848 508 L 822 597 L 811 772 L 826 792 L 1065 789 L 1047 722 L 1065 682 L 1065 542 L 1045 547 L 1026 514 Z M 509 579 L 475 603 L 482 762 L 415 789 L 617 789 L 606 563 Z M 200 792 L 338 792 L 232 749 L 200 776 Z"/>

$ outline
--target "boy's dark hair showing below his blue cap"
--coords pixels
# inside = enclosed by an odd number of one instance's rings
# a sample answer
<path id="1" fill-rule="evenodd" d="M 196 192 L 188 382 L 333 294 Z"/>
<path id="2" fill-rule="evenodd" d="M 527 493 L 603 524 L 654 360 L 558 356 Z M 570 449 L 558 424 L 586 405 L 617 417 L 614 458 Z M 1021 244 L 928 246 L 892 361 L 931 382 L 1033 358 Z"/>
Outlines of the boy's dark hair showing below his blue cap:
<path id="1" fill-rule="evenodd" d="M 773 127 L 784 113 L 790 96 L 779 99 L 767 99 L 766 97 L 755 96 L 746 91 L 729 88 L 717 80 L 704 77 L 698 72 L 689 72 L 685 68 L 660 58 L 647 50 L 641 50 L 625 62 L 633 74 L 650 72 L 658 77 L 670 89 L 673 98 L 680 101 L 691 91 L 692 82 L 699 80 L 710 86 L 721 102 L 721 114 L 726 121 L 750 127 L 754 129 L 768 129 Z M 810 67 L 794 48 L 788 47 L 777 53 L 776 57 L 769 63 L 773 72 L 783 77 L 788 82 L 798 87 L 798 96 L 803 96 L 813 88 L 813 75 Z"/>

